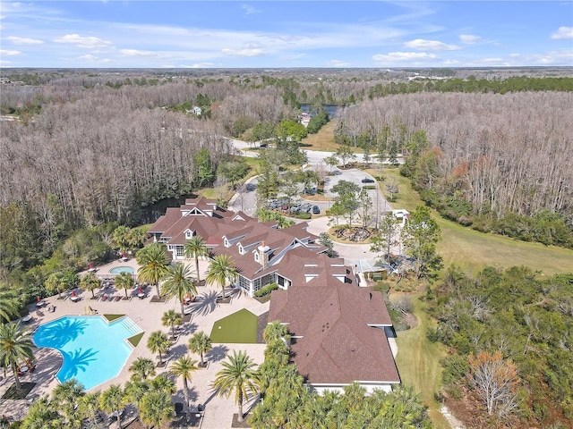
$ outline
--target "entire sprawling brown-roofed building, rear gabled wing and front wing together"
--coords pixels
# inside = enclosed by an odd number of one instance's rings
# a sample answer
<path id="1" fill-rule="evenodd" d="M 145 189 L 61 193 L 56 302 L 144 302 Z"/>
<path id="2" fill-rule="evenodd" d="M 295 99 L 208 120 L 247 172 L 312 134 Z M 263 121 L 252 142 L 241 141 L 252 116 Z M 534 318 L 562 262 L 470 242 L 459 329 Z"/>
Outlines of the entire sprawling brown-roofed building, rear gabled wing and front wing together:
<path id="1" fill-rule="evenodd" d="M 288 325 L 293 362 L 315 391 L 342 390 L 354 382 L 368 391 L 389 391 L 400 377 L 384 300 L 372 288 L 357 287 L 344 259 L 327 257 L 307 226 L 278 230 L 274 222 L 260 223 L 200 198 L 168 208 L 149 233 L 167 244 L 175 260 L 184 259 L 186 240 L 200 236 L 211 255 L 233 258 L 240 273 L 235 287 L 251 296 L 277 283 L 269 322 Z"/>

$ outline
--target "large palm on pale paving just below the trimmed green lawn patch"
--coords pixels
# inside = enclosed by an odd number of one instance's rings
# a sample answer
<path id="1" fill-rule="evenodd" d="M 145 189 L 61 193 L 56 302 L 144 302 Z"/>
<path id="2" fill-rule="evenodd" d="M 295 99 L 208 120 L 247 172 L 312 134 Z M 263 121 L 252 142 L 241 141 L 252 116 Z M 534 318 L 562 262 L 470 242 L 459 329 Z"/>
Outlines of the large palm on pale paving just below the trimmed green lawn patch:
<path id="1" fill-rule="evenodd" d="M 237 420 L 243 421 L 243 401 L 249 391 L 256 393 L 259 389 L 259 374 L 254 368 L 255 363 L 246 351 L 233 350 L 233 356 L 227 355 L 228 362 L 223 362 L 223 369 L 215 374 L 213 388 L 219 396 L 231 396 L 235 392 L 235 402 L 239 406 Z"/>

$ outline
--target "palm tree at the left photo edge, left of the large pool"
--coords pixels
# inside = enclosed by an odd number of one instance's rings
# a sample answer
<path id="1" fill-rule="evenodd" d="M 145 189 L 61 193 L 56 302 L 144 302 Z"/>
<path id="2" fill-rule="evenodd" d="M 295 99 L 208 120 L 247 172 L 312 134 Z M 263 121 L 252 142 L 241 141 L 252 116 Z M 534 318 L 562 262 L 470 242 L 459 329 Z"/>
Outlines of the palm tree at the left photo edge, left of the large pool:
<path id="1" fill-rule="evenodd" d="M 32 347 L 30 333 L 20 329 L 20 324 L 0 324 L 0 366 L 4 367 L 4 372 L 8 367 L 12 368 L 16 389 L 21 388 L 18 363 L 33 358 Z"/>

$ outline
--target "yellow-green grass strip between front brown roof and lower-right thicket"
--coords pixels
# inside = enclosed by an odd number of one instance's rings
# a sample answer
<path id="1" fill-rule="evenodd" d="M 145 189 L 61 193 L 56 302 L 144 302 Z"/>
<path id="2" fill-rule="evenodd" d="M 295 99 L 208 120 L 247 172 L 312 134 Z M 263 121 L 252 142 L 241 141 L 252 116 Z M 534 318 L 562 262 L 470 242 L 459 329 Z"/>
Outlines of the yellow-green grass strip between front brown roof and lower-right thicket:
<path id="1" fill-rule="evenodd" d="M 449 428 L 446 418 L 440 413 L 440 404 L 433 398 L 434 392 L 440 390 L 440 358 L 444 356 L 444 352 L 439 344 L 426 338 L 426 332 L 432 322 L 423 310 L 419 296 L 420 294 L 412 296 L 418 325 L 414 329 L 398 332 L 396 364 L 402 383 L 411 384 L 415 391 L 421 392 L 423 404 L 429 407 L 433 427 Z"/>

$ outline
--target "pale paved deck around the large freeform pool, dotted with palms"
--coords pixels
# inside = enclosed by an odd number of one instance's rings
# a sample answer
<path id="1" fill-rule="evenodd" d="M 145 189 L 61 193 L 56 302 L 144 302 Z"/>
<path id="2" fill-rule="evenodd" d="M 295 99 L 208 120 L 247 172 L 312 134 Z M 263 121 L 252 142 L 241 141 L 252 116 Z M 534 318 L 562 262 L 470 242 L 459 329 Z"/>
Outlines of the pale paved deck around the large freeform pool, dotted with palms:
<path id="1" fill-rule="evenodd" d="M 194 261 L 189 261 L 188 264 L 194 271 Z M 132 266 L 137 270 L 138 265 L 134 259 L 127 262 L 115 261 L 111 264 L 98 267 L 98 275 L 102 276 L 109 273 L 109 270 L 116 266 Z M 208 263 L 200 261 L 201 279 L 205 278 Z M 156 292 L 155 288 L 148 287 L 148 296 L 145 299 L 139 299 L 137 290 L 128 290 L 129 300 L 118 301 L 101 301 L 91 299 L 91 292 L 85 290 L 76 290 L 76 295 L 80 300 L 74 302 L 69 294 L 64 296 L 64 299 L 58 299 L 58 295 L 44 299 L 46 305 L 37 308 L 35 304 L 29 306 L 30 315 L 32 320 L 28 325 L 34 329 L 39 324 L 45 324 L 56 318 L 64 315 L 85 315 L 85 309 L 90 306 L 98 312 L 99 315 L 103 314 L 121 314 L 131 317 L 133 322 L 138 324 L 143 331 L 145 331 L 143 338 L 139 345 L 133 349 L 132 354 L 128 357 L 127 362 L 122 368 L 120 374 L 109 380 L 107 383 L 100 384 L 99 386 L 91 389 L 90 391 L 103 391 L 111 384 L 124 384 L 130 378 L 129 366 L 132 365 L 133 360 L 138 357 L 148 357 L 157 361 L 156 355 L 152 354 L 147 348 L 147 340 L 150 332 L 163 331 L 168 333 L 169 328 L 161 324 L 161 316 L 170 309 L 175 309 L 179 312 L 181 310 L 179 302 L 171 299 L 167 302 L 151 302 Z M 254 315 L 262 315 L 269 311 L 269 302 L 261 304 L 256 299 L 252 299 L 240 290 L 227 289 L 227 295 L 232 295 L 233 299 L 230 304 L 219 304 L 216 302 L 216 297 L 220 293 L 220 288 L 215 286 L 200 286 L 197 288 L 198 299 L 192 303 L 191 306 L 186 307 L 186 312 L 191 315 L 191 321 L 182 325 L 180 330 L 179 339 L 175 342 L 170 350 L 167 360 L 169 364 L 188 353 L 193 359 L 198 362 L 200 357 L 192 354 L 186 348 L 186 344 L 193 332 L 203 331 L 210 335 L 213 324 L 220 318 L 231 315 L 236 311 L 246 308 Z M 103 293 L 104 290 L 95 290 L 96 295 Z M 122 297 L 125 296 L 124 290 L 115 290 L 114 287 L 105 290 L 108 295 Z M 56 311 L 50 313 L 47 311 L 48 306 L 55 306 Z M 209 366 L 206 369 L 199 369 L 192 374 L 192 382 L 190 383 L 191 389 L 191 405 L 192 410 L 196 410 L 199 404 L 204 405 L 204 416 L 201 422 L 201 427 L 205 429 L 222 429 L 231 427 L 233 414 L 237 412 L 237 407 L 234 401 L 234 395 L 227 400 L 215 395 L 211 389 L 211 383 L 215 379 L 215 374 L 221 369 L 222 361 L 226 360 L 227 353 L 233 353 L 233 350 L 245 350 L 247 354 L 252 357 L 254 362 L 261 364 L 264 360 L 264 344 L 216 344 L 213 343 L 213 349 L 205 356 L 209 361 Z M 30 391 L 27 399 L 38 398 L 43 395 L 50 394 L 56 387 L 58 381 L 56 373 L 62 365 L 62 357 L 60 354 L 52 349 L 35 349 L 34 355 L 37 358 L 37 369 L 33 374 L 24 374 L 21 377 L 22 383 L 37 383 L 36 386 Z M 167 368 L 158 368 L 157 374 L 168 372 Z M 4 380 L 0 381 L 0 396 L 4 394 L 13 384 L 13 374 L 6 374 Z M 183 383 L 180 379 L 176 380 L 178 391 L 175 393 L 173 402 L 184 402 L 183 400 Z M 0 402 L 0 409 L 6 416 L 20 419 L 26 416 L 28 407 L 30 406 L 28 400 L 4 400 Z M 252 406 L 252 401 L 244 404 L 244 411 Z M 127 408 L 127 418 L 129 418 L 132 410 Z M 125 420 L 124 420 L 125 421 Z M 114 425 L 110 426 L 114 427 Z"/>

